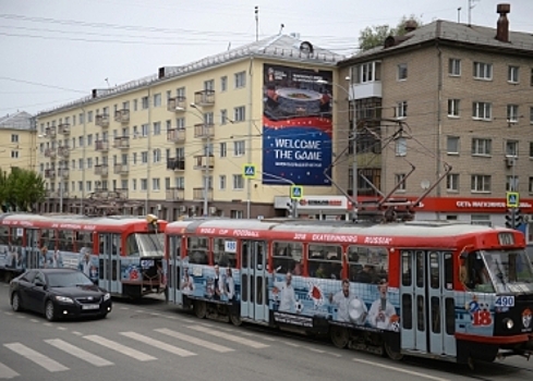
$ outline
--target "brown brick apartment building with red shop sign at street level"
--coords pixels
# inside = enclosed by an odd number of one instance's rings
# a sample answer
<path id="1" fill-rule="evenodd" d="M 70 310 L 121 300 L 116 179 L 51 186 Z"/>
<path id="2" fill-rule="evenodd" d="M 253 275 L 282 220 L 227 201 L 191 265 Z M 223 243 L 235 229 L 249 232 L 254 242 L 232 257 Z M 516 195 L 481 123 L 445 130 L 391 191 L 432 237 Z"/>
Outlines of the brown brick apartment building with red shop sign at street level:
<path id="1" fill-rule="evenodd" d="M 511 192 L 533 216 L 533 36 L 510 30 L 509 11 L 498 5 L 494 28 L 408 23 L 404 36 L 339 62 L 360 200 L 428 192 L 417 219 L 504 225 Z"/>

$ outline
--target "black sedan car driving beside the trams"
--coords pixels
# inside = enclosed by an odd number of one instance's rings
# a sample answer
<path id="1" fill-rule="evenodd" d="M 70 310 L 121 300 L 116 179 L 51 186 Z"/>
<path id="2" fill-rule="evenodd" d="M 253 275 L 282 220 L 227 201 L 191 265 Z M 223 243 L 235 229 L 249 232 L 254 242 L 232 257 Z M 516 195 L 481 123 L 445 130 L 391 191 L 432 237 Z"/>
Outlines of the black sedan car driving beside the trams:
<path id="1" fill-rule="evenodd" d="M 112 308 L 111 295 L 83 272 L 72 269 L 33 269 L 10 283 L 14 311 L 24 309 L 52 321 L 60 318 L 105 318 Z"/>

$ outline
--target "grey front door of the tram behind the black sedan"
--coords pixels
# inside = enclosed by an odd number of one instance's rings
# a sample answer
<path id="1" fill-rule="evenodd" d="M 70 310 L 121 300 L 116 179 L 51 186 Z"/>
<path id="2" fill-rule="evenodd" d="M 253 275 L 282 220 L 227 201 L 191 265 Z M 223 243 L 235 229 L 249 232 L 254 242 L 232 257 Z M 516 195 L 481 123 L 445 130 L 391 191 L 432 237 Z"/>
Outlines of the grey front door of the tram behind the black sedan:
<path id="1" fill-rule="evenodd" d="M 110 293 L 122 294 L 122 283 L 120 281 L 120 234 L 98 234 L 98 285 Z"/>

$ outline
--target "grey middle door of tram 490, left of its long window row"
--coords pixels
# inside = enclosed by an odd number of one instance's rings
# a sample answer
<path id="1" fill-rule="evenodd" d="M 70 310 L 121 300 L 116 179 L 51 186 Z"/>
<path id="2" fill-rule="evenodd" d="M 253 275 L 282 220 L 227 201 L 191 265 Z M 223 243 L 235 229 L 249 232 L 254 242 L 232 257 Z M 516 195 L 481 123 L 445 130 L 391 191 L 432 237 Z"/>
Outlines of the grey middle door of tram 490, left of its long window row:
<path id="1" fill-rule="evenodd" d="M 242 241 L 241 317 L 268 322 L 267 244 Z"/>

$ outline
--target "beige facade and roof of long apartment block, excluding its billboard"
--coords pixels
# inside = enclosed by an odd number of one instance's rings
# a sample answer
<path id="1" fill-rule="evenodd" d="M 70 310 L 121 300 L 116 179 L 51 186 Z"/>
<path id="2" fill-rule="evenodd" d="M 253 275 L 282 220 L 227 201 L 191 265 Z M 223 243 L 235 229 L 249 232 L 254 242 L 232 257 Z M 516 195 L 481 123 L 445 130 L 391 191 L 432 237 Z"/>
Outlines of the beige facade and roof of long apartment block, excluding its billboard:
<path id="1" fill-rule="evenodd" d="M 276 36 L 39 113 L 38 170 L 49 190 L 41 211 L 78 212 L 87 198 L 117 190 L 128 200 L 124 212 L 168 220 L 284 216 L 274 198 L 290 184 L 262 182 L 264 67 L 328 71 L 336 81 L 340 57 L 304 48 Z M 243 177 L 247 163 L 255 179 Z M 305 192 L 337 194 L 331 185 Z"/>

